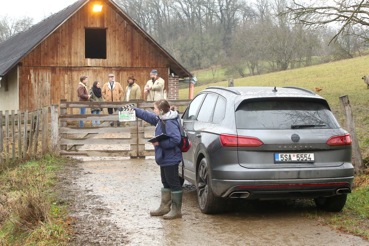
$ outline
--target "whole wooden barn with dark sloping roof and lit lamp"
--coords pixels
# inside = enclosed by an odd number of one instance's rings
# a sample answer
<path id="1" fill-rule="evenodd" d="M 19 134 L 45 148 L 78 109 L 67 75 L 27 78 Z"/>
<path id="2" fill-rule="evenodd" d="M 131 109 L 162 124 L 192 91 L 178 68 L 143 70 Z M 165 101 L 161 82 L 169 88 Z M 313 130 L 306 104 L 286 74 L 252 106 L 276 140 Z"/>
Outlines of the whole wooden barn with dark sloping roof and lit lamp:
<path id="1" fill-rule="evenodd" d="M 152 69 L 165 80 L 167 98 L 178 99 L 178 78 L 190 72 L 114 1 L 79 0 L 0 43 L 0 111 L 78 101 L 80 76 L 91 88 L 108 82 L 109 73 L 123 89 L 134 75 L 146 100 Z"/>

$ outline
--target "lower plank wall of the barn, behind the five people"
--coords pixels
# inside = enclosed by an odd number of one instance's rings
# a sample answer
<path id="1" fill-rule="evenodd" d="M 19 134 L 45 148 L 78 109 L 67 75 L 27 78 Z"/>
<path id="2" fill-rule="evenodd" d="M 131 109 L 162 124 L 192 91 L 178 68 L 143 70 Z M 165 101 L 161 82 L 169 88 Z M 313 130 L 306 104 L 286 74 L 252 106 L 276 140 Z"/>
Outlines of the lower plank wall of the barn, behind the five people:
<path id="1" fill-rule="evenodd" d="M 168 74 L 167 68 L 156 68 L 160 74 Z M 90 90 L 95 80 L 101 86 L 108 82 L 108 73 L 113 72 L 115 81 L 120 82 L 123 90 L 127 86 L 127 76 L 135 75 L 137 84 L 141 87 L 141 98 L 147 98 L 143 93 L 146 82 L 150 79 L 151 68 L 124 68 L 111 70 L 108 67 L 19 67 L 19 108 L 35 110 L 43 105 L 59 104 L 60 99 L 78 101 L 77 87 L 82 75 L 88 77 L 87 88 Z M 168 75 L 165 78 L 168 86 Z M 168 89 L 166 89 L 168 90 Z M 73 113 L 77 114 L 78 109 Z M 89 110 L 87 110 L 89 113 Z M 72 111 L 68 112 L 72 113 Z M 106 112 L 107 113 L 107 112 Z"/>

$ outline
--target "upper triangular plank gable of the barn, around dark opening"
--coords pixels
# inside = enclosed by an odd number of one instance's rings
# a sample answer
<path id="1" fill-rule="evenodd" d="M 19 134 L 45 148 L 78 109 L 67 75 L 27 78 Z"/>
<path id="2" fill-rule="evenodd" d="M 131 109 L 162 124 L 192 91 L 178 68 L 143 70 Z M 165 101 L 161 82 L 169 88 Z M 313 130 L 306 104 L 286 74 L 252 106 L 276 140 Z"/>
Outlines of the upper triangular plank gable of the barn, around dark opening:
<path id="1" fill-rule="evenodd" d="M 106 4 L 89 1 L 21 61 L 23 66 L 169 67 L 151 44 Z M 107 29 L 107 59 L 85 58 L 85 28 Z"/>

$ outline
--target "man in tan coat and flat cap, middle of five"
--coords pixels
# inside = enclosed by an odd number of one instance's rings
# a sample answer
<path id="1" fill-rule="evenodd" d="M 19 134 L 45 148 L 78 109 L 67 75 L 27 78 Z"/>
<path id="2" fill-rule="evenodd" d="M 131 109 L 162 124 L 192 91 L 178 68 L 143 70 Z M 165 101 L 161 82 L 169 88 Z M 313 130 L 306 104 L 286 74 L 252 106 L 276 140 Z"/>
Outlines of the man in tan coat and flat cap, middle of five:
<path id="1" fill-rule="evenodd" d="M 122 101 L 123 97 L 123 88 L 120 85 L 120 83 L 114 81 L 114 75 L 109 74 L 108 75 L 109 81 L 104 84 L 103 89 L 101 89 L 101 96 L 105 99 L 107 102 L 120 102 Z M 114 108 L 108 108 L 108 114 L 113 114 L 113 112 L 117 111 L 119 107 Z M 117 115 L 118 117 L 118 115 Z M 110 126 L 113 126 L 114 123 L 111 122 Z M 120 122 L 117 121 L 118 127 L 120 127 Z"/>

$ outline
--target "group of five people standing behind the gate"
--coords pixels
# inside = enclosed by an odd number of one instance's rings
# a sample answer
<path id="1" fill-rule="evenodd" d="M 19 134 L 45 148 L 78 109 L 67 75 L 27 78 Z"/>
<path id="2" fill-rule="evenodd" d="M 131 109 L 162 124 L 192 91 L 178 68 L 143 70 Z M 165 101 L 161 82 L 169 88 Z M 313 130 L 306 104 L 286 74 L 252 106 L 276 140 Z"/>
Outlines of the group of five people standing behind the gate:
<path id="1" fill-rule="evenodd" d="M 164 80 L 158 76 L 158 71 L 153 69 L 150 73 L 151 79 L 146 83 L 144 93 L 147 95 L 148 101 L 155 101 L 163 98 Z M 129 101 L 132 99 L 141 98 L 141 88 L 136 83 L 137 78 L 133 75 L 127 77 L 127 86 L 125 90 L 119 82 L 115 81 L 115 76 L 110 73 L 108 75 L 108 82 L 100 87 L 100 82 L 95 81 L 91 87 L 89 93 L 87 93 L 87 76 L 81 76 L 78 85 L 78 101 L 91 101 L 91 102 L 117 102 L 117 101 Z M 108 114 L 113 114 L 118 110 L 117 108 L 108 108 Z M 102 108 L 91 108 L 92 114 L 101 114 Z M 80 114 L 86 114 L 86 108 L 80 108 Z M 100 121 L 92 121 L 93 126 L 100 124 Z M 110 123 L 111 126 L 114 122 Z M 79 126 L 83 127 L 83 121 L 79 121 Z M 120 122 L 117 121 L 117 126 L 120 127 Z"/>

